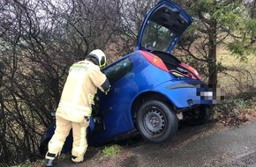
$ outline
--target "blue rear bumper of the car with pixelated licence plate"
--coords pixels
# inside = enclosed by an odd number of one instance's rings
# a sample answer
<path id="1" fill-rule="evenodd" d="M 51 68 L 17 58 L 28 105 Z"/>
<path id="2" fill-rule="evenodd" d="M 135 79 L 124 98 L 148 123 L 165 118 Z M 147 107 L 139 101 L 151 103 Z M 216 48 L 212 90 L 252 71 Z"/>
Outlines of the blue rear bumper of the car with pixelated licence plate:
<path id="1" fill-rule="evenodd" d="M 213 89 L 200 80 L 192 80 L 191 83 L 169 81 L 157 86 L 155 91 L 169 98 L 176 108 L 180 108 L 180 112 L 197 105 L 218 104 L 224 98 L 224 92 L 220 88 Z"/>

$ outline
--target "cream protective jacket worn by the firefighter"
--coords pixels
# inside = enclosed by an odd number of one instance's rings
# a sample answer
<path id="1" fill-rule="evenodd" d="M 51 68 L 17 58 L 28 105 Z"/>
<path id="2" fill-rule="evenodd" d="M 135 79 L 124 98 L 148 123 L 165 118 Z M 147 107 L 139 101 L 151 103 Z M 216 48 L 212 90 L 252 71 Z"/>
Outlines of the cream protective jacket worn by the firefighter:
<path id="1" fill-rule="evenodd" d="M 64 84 L 56 116 L 72 122 L 82 122 L 91 116 L 97 88 L 109 91 L 109 80 L 99 66 L 87 60 L 74 63 Z"/>

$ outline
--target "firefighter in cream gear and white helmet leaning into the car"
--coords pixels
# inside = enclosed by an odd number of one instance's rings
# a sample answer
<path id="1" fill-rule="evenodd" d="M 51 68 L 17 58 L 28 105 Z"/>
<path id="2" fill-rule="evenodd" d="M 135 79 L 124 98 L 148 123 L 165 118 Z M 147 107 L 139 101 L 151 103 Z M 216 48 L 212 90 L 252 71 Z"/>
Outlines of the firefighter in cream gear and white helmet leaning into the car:
<path id="1" fill-rule="evenodd" d="M 72 161 L 80 163 L 87 151 L 87 127 L 94 105 L 97 88 L 107 93 L 109 80 L 101 72 L 106 65 L 106 56 L 100 49 L 87 55 L 84 61 L 74 63 L 64 84 L 64 90 L 56 110 L 56 130 L 49 141 L 49 150 L 45 156 L 46 166 L 53 161 L 63 148 L 72 129 Z"/>

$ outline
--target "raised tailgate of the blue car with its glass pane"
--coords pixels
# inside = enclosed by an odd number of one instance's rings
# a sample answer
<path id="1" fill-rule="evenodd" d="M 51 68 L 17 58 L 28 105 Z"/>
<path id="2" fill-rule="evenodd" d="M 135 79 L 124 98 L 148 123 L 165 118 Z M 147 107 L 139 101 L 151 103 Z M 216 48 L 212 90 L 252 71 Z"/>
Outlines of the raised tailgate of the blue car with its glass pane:
<path id="1" fill-rule="evenodd" d="M 162 0 L 147 13 L 139 32 L 136 49 L 170 53 L 191 24 L 192 17 L 186 11 L 169 0 Z"/>

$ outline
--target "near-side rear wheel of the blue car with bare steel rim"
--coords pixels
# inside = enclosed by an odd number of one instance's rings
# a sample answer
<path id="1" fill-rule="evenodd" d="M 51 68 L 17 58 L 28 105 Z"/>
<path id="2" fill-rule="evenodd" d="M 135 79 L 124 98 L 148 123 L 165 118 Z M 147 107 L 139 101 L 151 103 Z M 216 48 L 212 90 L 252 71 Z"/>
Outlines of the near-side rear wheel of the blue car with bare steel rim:
<path id="1" fill-rule="evenodd" d="M 136 125 L 141 136 L 149 142 L 167 142 L 176 134 L 177 115 L 158 100 L 149 100 L 139 107 Z"/>

